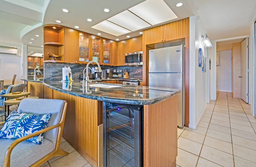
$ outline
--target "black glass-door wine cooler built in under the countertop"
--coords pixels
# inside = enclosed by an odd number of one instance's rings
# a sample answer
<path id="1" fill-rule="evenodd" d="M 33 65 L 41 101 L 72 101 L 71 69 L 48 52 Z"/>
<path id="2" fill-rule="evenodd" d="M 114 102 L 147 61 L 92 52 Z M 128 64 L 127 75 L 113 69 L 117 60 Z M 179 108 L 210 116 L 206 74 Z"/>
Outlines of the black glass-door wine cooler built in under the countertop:
<path id="1" fill-rule="evenodd" d="M 143 105 L 103 102 L 103 166 L 143 166 Z"/>

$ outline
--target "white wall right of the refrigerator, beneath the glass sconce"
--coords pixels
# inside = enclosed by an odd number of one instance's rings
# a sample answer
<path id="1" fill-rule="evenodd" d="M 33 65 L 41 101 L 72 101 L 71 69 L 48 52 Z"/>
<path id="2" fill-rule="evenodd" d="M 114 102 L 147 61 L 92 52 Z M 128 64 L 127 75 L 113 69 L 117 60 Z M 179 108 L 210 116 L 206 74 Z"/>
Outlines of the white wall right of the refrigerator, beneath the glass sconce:
<path id="1" fill-rule="evenodd" d="M 202 48 L 204 55 L 206 55 L 201 38 L 201 35 L 205 35 L 206 31 L 202 21 L 197 20 L 197 16 L 198 14 L 191 16 L 189 21 L 189 127 L 192 129 L 196 129 L 206 109 L 206 72 L 202 72 L 202 67 L 198 67 L 199 48 Z"/>

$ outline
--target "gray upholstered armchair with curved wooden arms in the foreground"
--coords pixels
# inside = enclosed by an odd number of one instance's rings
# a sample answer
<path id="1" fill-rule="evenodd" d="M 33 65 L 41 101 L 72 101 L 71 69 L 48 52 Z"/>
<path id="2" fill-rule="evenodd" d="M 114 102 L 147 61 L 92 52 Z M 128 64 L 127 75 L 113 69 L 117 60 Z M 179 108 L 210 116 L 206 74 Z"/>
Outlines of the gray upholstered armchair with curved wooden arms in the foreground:
<path id="1" fill-rule="evenodd" d="M 0 165 L 7 166 L 40 166 L 53 156 L 68 155 L 60 149 L 61 136 L 67 103 L 56 99 L 23 99 L 17 112 L 27 114 L 52 113 L 46 129 L 34 132 L 18 139 L 0 138 Z M 3 126 L 4 122 L 0 123 Z M 0 127 L 1 128 L 1 127 Z M 26 139 L 45 132 L 42 144 Z"/>

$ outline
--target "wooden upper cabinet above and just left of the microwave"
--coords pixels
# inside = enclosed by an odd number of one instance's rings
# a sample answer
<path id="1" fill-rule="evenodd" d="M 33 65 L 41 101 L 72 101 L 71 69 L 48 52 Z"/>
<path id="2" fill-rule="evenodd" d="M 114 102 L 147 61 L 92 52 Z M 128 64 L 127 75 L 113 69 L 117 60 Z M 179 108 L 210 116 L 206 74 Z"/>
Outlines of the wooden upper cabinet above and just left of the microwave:
<path id="1" fill-rule="evenodd" d="M 125 65 L 123 54 L 135 51 L 142 51 L 142 36 L 137 36 L 127 40 L 119 41 L 117 44 L 117 65 Z"/>

